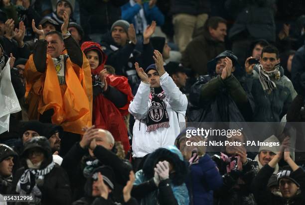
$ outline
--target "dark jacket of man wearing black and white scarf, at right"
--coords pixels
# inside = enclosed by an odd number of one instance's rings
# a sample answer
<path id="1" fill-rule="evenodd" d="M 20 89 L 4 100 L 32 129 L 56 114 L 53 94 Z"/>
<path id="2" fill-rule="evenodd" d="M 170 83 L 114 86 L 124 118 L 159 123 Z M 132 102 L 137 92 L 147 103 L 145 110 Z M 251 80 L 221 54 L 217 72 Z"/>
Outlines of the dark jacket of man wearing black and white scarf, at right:
<path id="1" fill-rule="evenodd" d="M 271 80 L 276 84 L 270 94 L 263 90 L 258 76 L 258 69 L 254 67 L 253 85 L 251 89 L 255 102 L 253 121 L 256 122 L 279 122 L 286 114 L 293 99 L 297 96 L 291 81 L 284 76 L 284 69 L 279 69 L 281 78 Z"/>

